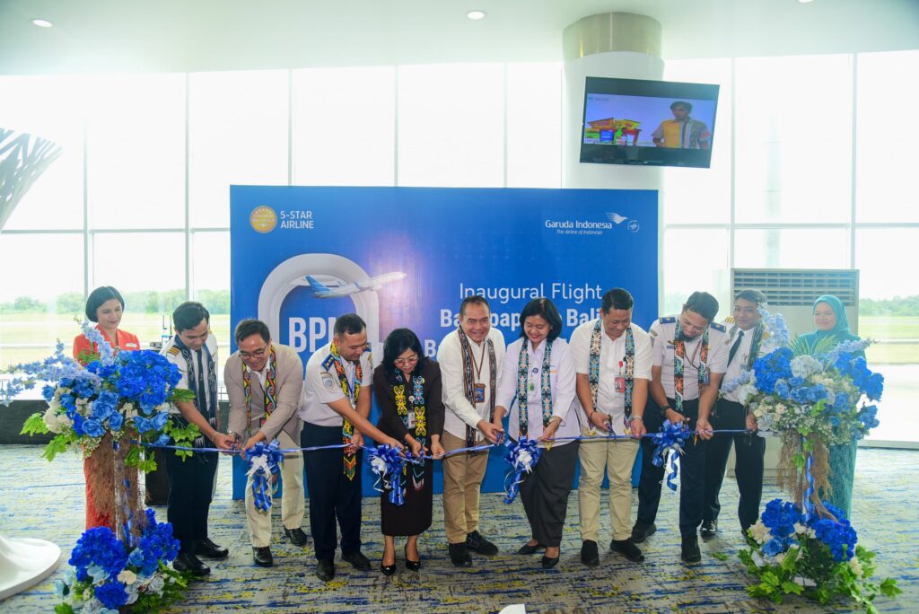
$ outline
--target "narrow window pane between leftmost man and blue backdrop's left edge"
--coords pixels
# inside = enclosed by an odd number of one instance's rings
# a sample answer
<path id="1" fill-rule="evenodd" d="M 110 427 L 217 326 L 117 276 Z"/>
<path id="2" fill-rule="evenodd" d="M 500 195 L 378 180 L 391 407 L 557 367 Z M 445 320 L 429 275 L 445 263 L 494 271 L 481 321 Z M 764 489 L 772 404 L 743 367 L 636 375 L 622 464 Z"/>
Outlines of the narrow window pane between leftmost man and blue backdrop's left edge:
<path id="1" fill-rule="evenodd" d="M 210 312 L 210 330 L 220 351 L 219 378 L 230 357 L 233 329 L 230 323 L 230 233 L 191 235 L 191 296 Z"/>

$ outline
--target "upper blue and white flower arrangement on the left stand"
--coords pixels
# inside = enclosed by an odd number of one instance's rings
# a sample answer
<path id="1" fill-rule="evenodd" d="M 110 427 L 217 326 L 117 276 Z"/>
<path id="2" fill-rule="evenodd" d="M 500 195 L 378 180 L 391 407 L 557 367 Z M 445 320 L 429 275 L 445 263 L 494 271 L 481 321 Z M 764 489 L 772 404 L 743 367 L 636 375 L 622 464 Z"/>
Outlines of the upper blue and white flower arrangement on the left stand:
<path id="1" fill-rule="evenodd" d="M 0 392 L 0 404 L 20 392 L 47 383 L 41 390 L 48 402 L 44 414 L 28 418 L 23 434 L 54 433 L 43 456 L 52 460 L 67 449 L 80 450 L 88 457 L 108 435 L 114 441 L 129 437 L 134 441 L 165 445 L 170 438 L 178 446 L 190 446 L 198 437 L 198 427 L 177 426 L 170 421 L 169 404 L 189 401 L 193 393 L 176 389 L 181 379 L 175 365 L 153 350 L 121 351 L 116 354 L 105 338 L 88 322 L 86 337 L 96 344 L 98 354 L 82 357 L 91 360 L 85 367 L 65 356 L 58 342 L 55 353 L 42 361 L 16 365 L 16 373 Z M 190 452 L 179 450 L 180 455 Z M 143 459 L 136 446 L 126 463 L 142 471 L 153 471 L 153 458 Z"/>

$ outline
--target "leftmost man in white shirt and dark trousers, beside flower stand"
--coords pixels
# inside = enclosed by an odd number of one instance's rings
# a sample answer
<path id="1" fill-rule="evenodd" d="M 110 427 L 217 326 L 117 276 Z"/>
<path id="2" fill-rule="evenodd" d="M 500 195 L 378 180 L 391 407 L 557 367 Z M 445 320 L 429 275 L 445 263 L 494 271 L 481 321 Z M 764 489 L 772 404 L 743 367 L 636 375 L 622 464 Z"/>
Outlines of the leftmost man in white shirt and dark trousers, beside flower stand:
<path id="1" fill-rule="evenodd" d="M 173 312 L 173 335 L 160 350 L 178 367 L 182 379 L 176 388 L 195 393 L 195 401 L 173 405 L 173 418 L 198 426 L 201 436 L 195 448 L 233 449 L 233 438 L 220 432 L 217 424 L 217 340 L 210 335 L 210 313 L 199 302 L 187 301 Z M 169 468 L 169 500 L 166 516 L 179 540 L 180 550 L 173 566 L 180 572 L 201 576 L 210 567 L 198 555 L 224 559 L 229 551 L 208 537 L 208 512 L 217 475 L 217 452 L 197 452 L 183 459 L 172 450 L 166 454 Z"/>

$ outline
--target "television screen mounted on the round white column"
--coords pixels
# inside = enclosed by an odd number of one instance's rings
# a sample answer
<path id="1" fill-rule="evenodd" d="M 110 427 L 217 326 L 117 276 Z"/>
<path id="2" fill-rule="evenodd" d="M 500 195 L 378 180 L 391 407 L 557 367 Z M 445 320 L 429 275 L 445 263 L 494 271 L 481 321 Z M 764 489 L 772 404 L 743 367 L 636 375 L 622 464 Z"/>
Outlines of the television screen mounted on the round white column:
<path id="1" fill-rule="evenodd" d="M 587 77 L 581 162 L 708 168 L 718 88 Z"/>

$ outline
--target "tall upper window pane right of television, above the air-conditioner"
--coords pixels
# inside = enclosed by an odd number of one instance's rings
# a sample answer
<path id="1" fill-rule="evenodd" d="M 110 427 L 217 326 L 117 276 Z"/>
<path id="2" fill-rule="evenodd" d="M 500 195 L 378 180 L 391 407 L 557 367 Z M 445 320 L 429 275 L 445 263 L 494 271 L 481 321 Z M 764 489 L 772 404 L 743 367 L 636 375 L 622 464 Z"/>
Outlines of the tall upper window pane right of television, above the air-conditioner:
<path id="1" fill-rule="evenodd" d="M 848 222 L 849 55 L 736 61 L 735 220 Z"/>

